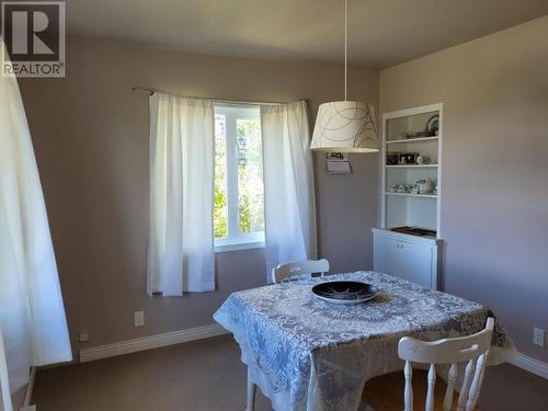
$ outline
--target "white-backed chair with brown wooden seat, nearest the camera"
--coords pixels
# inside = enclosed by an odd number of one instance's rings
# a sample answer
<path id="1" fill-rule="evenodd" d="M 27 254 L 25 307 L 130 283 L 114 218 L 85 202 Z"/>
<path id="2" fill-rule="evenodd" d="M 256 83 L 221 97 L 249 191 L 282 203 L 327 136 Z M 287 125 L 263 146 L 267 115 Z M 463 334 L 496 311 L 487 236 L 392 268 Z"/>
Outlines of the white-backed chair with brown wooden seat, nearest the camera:
<path id="1" fill-rule="evenodd" d="M 419 409 L 421 407 L 420 402 L 425 404 L 424 409 L 426 411 L 449 411 L 453 409 L 455 399 L 457 411 L 473 410 L 483 381 L 493 327 L 494 319 L 488 318 L 484 330 L 468 336 L 444 339 L 434 342 L 419 341 L 409 336 L 402 338 L 398 346 L 398 355 L 401 359 L 406 361 L 403 369 L 404 378 L 401 378 L 401 375 L 397 373 L 367 381 L 364 389 L 364 402 L 377 411 L 401 411 L 401 399 L 398 400 L 393 395 L 395 388 L 400 386 L 403 388 L 404 411 L 412 411 L 413 406 Z M 422 387 L 421 384 L 418 384 L 415 388 L 423 389 L 419 390 L 416 398 L 413 398 L 413 387 L 411 385 L 413 373 L 411 367 L 412 362 L 430 364 L 426 375 L 427 387 L 424 387 L 424 384 Z M 463 387 L 457 397 L 455 385 L 457 381 L 458 363 L 467 363 L 467 366 Z M 438 364 L 450 364 L 450 368 L 447 384 L 441 381 L 436 386 L 435 367 Z M 399 378 L 396 376 L 399 376 Z M 439 389 L 439 386 L 445 389 Z"/>

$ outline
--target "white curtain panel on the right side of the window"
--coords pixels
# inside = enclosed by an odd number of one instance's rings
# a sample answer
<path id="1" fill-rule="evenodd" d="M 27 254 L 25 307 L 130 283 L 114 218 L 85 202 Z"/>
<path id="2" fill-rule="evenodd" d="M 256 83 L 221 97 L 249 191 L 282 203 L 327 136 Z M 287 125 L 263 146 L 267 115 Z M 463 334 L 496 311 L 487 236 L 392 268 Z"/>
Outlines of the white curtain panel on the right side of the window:
<path id="1" fill-rule="evenodd" d="M 277 264 L 317 258 L 306 102 L 261 106 L 267 281 Z"/>

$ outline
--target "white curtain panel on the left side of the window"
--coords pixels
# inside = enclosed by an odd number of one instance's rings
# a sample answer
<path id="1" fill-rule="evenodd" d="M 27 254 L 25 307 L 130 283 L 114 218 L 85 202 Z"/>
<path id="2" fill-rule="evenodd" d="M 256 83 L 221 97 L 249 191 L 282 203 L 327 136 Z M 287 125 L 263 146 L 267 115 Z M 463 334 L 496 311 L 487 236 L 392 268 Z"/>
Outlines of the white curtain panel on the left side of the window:
<path id="1" fill-rule="evenodd" d="M 213 102 L 150 96 L 149 295 L 215 289 L 213 173 Z"/>

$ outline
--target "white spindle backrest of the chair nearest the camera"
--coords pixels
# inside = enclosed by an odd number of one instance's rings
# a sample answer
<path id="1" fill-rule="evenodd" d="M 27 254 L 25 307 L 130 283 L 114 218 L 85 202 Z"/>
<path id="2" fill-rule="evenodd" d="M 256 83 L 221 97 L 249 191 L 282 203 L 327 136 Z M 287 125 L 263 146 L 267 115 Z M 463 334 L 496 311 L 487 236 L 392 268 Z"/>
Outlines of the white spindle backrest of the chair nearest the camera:
<path id="1" fill-rule="evenodd" d="M 472 335 L 456 339 L 444 339 L 424 342 L 410 336 L 400 340 L 398 355 L 406 361 L 403 375 L 406 377 L 404 406 L 406 411 L 413 410 L 413 389 L 411 386 L 411 362 L 430 364 L 429 388 L 426 392 L 426 411 L 434 410 L 434 384 L 436 380 L 436 364 L 450 364 L 447 378 L 447 391 L 444 399 L 444 411 L 453 407 L 453 392 L 457 380 L 457 364 L 467 362 L 463 388 L 457 401 L 457 411 L 471 411 L 478 401 L 486 362 L 491 346 L 494 319 L 488 318 L 486 328 Z"/>

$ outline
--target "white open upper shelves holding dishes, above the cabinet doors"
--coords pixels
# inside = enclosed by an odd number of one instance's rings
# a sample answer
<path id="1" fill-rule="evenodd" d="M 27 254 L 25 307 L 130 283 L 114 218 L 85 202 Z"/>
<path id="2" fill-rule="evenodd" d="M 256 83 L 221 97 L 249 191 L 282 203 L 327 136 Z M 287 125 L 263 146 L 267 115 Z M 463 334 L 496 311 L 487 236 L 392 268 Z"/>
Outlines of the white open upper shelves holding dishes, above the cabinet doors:
<path id="1" fill-rule="evenodd" d="M 438 116 L 438 127 L 429 132 L 427 123 L 434 115 Z M 443 104 L 383 115 L 381 228 L 418 227 L 433 230 L 441 238 L 442 141 Z M 387 157 L 393 161 L 403 153 L 420 155 L 422 163 L 387 164 Z M 432 191 L 411 192 L 410 187 L 421 180 L 431 181 Z"/>

